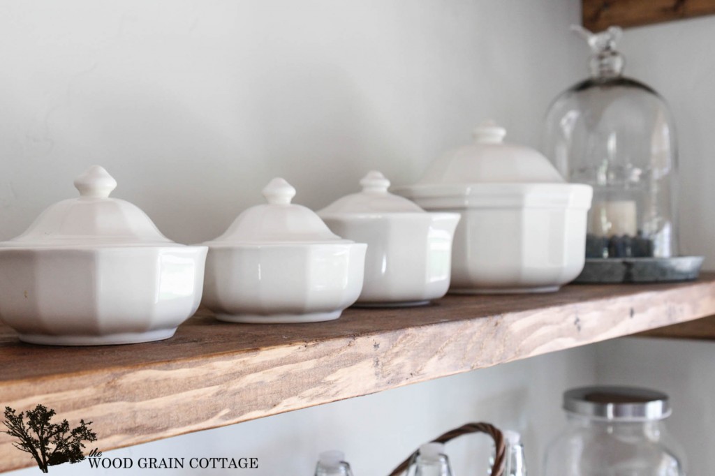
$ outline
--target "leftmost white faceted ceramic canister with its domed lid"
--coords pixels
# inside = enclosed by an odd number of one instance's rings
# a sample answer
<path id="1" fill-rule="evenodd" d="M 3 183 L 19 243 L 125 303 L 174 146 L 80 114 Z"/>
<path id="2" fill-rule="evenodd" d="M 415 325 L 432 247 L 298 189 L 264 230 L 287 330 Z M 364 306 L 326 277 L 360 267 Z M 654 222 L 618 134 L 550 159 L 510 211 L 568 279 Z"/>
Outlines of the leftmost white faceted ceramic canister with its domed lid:
<path id="1" fill-rule="evenodd" d="M 94 166 L 80 196 L 0 243 L 0 318 L 33 344 L 98 345 L 172 337 L 199 307 L 207 247 L 164 237 L 142 210 L 109 198 Z"/>

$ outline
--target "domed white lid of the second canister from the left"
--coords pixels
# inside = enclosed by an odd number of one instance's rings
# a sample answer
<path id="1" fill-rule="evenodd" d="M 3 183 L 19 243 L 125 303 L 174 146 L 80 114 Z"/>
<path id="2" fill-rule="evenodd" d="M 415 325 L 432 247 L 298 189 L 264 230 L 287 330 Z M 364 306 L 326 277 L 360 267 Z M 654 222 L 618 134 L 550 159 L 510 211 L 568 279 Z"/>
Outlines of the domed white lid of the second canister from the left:
<path id="1" fill-rule="evenodd" d="M 267 204 L 246 209 L 224 234 L 207 244 L 352 243 L 333 234 L 311 209 L 291 204 L 295 189 L 284 179 L 272 179 L 262 193 Z"/>

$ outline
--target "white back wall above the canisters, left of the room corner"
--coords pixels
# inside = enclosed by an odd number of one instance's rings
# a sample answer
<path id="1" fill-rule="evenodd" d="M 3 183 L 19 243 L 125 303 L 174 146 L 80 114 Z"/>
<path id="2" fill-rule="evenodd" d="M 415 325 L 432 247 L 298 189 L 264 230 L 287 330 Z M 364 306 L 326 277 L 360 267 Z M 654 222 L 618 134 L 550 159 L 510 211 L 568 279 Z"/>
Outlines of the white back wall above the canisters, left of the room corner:
<path id="1" fill-rule="evenodd" d="M 576 1 L 7 0 L 0 239 L 102 164 L 168 237 L 224 231 L 280 175 L 322 207 L 414 182 L 492 117 L 538 145 Z M 554 78 L 558 77 L 558 81 Z"/>

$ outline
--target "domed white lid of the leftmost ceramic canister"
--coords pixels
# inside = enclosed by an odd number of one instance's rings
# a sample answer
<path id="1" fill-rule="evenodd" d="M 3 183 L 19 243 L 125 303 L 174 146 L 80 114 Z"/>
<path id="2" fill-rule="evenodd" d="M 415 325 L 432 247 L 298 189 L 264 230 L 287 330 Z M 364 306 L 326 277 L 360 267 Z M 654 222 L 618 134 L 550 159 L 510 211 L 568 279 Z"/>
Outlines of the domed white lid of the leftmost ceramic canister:
<path id="1" fill-rule="evenodd" d="M 90 167 L 74 187 L 79 197 L 51 205 L 26 232 L 0 247 L 183 246 L 164 237 L 136 205 L 109 198 L 117 181 L 104 168 Z"/>

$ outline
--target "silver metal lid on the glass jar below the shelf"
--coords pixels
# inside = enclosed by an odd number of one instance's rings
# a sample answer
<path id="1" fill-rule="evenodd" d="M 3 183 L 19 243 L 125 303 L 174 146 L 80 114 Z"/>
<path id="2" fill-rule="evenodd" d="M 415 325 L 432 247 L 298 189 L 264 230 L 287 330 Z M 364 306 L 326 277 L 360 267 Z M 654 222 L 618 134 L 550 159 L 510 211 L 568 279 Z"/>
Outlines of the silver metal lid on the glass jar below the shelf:
<path id="1" fill-rule="evenodd" d="M 563 394 L 563 410 L 614 422 L 663 420 L 671 414 L 668 395 L 637 387 L 579 387 Z"/>

